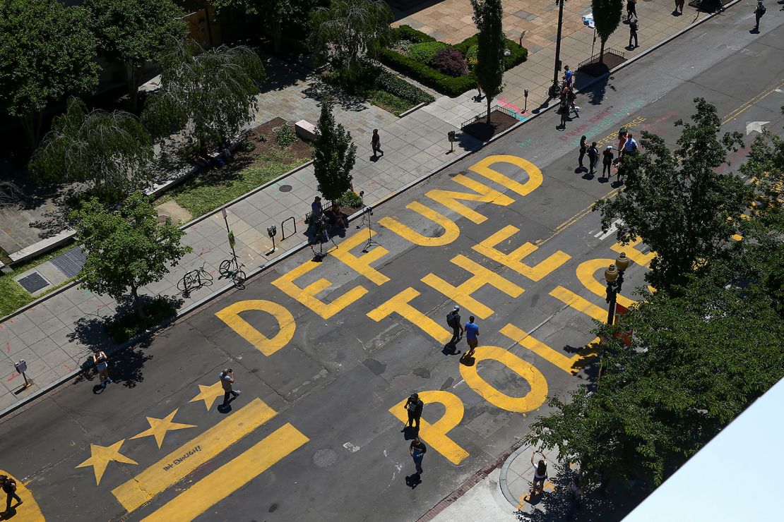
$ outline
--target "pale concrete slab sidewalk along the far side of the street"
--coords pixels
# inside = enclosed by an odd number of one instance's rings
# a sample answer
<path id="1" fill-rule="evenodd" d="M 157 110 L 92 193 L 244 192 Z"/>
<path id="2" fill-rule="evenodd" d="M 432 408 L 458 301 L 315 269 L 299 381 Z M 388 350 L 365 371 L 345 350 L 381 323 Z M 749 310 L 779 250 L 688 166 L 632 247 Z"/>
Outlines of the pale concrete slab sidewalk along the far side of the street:
<path id="1" fill-rule="evenodd" d="M 570 2 L 570 4 L 577 9 L 577 2 Z M 678 17 L 675 23 L 666 27 L 669 32 L 663 31 L 664 22 L 661 22 L 662 31 L 652 34 L 652 39 L 648 42 L 643 37 L 645 27 L 648 27 L 646 25 L 648 22 L 644 20 L 646 17 L 652 20 L 652 13 L 664 16 L 662 13 L 670 9 L 670 6 L 669 2 L 655 0 L 655 2 L 646 2 L 638 8 L 643 20 L 641 30 L 643 45 L 648 43 L 653 45 L 655 41 L 675 34 L 681 30 L 681 26 L 695 20 L 695 16 Z M 547 16 L 538 16 L 532 20 L 534 23 L 542 20 L 540 23 L 545 26 L 550 24 L 552 13 L 549 13 L 549 9 L 543 9 L 548 13 Z M 421 13 L 426 12 L 427 10 Z M 405 20 L 401 21 L 405 22 Z M 620 27 L 613 38 L 627 38 L 627 36 L 622 37 L 624 27 Z M 424 28 L 420 27 L 420 29 Z M 585 27 L 569 34 L 569 38 L 576 38 L 574 34 L 578 32 L 583 34 L 585 31 L 593 33 Z M 525 41 L 524 45 L 526 45 Z M 608 45 L 618 44 L 613 43 L 611 38 Z M 564 40 L 562 52 L 578 52 L 570 50 L 572 47 L 584 48 L 579 53 L 584 53 L 585 56 L 590 54 L 590 41 L 572 45 Z M 552 70 L 548 72 L 544 65 L 535 67 L 538 63 L 546 63 L 548 59 L 550 64 L 552 63 L 552 58 L 547 54 L 550 52 L 548 49 L 550 47 L 543 46 L 535 50 L 529 56 L 528 62 L 522 63 L 506 74 L 507 85 L 502 99 L 504 96 L 510 99 L 516 98 L 518 91 L 521 96 L 522 89 L 530 88 L 528 106 L 543 105 L 546 87 L 535 89 L 526 82 L 536 81 L 539 82 L 537 85 L 549 85 Z M 640 52 L 642 49 L 645 47 L 638 48 L 635 52 Z M 564 62 L 566 56 L 564 55 Z M 273 86 L 271 90 L 260 95 L 260 110 L 256 123 L 267 121 L 278 114 L 289 121 L 317 120 L 318 96 L 314 95 L 317 82 L 307 75 L 307 71 L 298 73 L 295 70 L 290 74 L 293 76 L 285 78 L 279 86 Z M 275 77 L 271 71 L 270 77 Z M 442 96 L 430 106 L 401 118 L 357 100 L 341 100 L 336 106 L 336 119 L 346 124 L 352 131 L 354 142 L 358 146 L 354 189 L 365 191 L 365 204 L 375 204 L 408 182 L 426 175 L 452 158 L 459 157 L 460 153 L 481 146 L 476 139 L 460 133 L 455 153 L 448 154 L 447 132 L 459 131 L 457 126 L 461 121 L 483 110 L 484 103 L 472 99 L 473 94 L 468 92 L 456 99 Z M 590 102 L 579 99 L 579 103 L 600 102 L 601 100 L 596 99 Z M 527 117 L 527 113 L 521 114 L 520 119 L 527 119 Z M 380 129 L 385 152 L 385 155 L 378 160 L 371 158 L 372 128 Z M 245 263 L 247 272 L 302 243 L 305 239 L 302 234 L 305 228 L 303 218 L 310 211 L 310 202 L 316 195 L 315 187 L 312 167 L 304 167 L 256 193 L 243 196 L 240 200 L 227 205 L 228 224 L 237 237 L 236 250 L 241 262 Z M 266 233 L 267 226 L 278 226 L 278 234 L 280 234 L 281 221 L 291 217 L 297 222 L 297 233 L 278 242 L 278 250 L 274 254 L 267 255 L 271 248 L 271 241 Z M 230 255 L 220 211 L 198 218 L 187 225 L 186 232 L 183 243 L 191 245 L 194 253 L 183 258 L 180 265 L 172 269 L 165 279 L 141 290 L 142 293 L 150 296 L 176 297 L 180 300 L 180 309 L 220 292 L 228 284 L 225 280 L 219 280 L 217 275 L 220 261 Z M 202 264 L 208 272 L 212 273 L 215 281 L 212 286 L 194 290 L 188 297 L 183 297 L 177 289 L 177 283 L 185 272 L 198 268 Z M 94 295 L 76 285 L 71 285 L 50 293 L 41 301 L 34 302 L 31 307 L 0 322 L 0 350 L 2 350 L 0 379 L 3 385 L 0 388 L 0 411 L 19 405 L 31 394 L 52 383 L 74 376 L 91 354 L 92 347 L 107 349 L 114 346 L 113 341 L 103 332 L 103 321 L 114 315 L 117 308 L 118 304 L 110 297 Z M 20 389 L 21 383 L 24 382 L 22 376 L 16 373 L 13 366 L 13 363 L 20 359 L 27 361 L 27 375 L 34 380 L 34 386 L 24 390 Z"/>

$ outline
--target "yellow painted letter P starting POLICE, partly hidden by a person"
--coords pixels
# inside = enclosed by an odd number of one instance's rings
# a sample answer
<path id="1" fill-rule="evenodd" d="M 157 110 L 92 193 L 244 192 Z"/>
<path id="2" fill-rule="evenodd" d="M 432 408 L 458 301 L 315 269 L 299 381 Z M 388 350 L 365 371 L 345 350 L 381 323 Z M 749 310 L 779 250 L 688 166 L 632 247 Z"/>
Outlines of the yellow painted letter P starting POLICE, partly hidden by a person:
<path id="1" fill-rule="evenodd" d="M 468 452 L 452 441 L 447 434 L 463 420 L 463 401 L 456 394 L 441 390 L 420 391 L 419 398 L 425 403 L 425 413 L 427 405 L 433 403 L 441 404 L 446 409 L 441 419 L 432 424 L 425 420 L 423 414 L 419 419 L 419 437 L 431 448 L 444 455 L 450 463 L 455 465 L 462 463 L 468 456 Z M 404 408 L 405 401 L 403 399 L 390 408 L 390 413 L 401 422 L 408 423 L 408 413 Z"/>

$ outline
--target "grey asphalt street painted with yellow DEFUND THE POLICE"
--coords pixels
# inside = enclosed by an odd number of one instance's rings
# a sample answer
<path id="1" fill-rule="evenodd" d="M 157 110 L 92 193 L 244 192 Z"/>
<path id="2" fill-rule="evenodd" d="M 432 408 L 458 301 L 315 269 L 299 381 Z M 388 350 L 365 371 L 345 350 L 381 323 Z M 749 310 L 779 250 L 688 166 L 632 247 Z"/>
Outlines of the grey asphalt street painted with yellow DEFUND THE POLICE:
<path id="1" fill-rule="evenodd" d="M 580 96 L 565 131 L 545 113 L 374 209 L 372 232 L 352 223 L 321 263 L 303 250 L 125 351 L 102 393 L 89 376 L 3 419 L 0 468 L 27 495 L 15 520 L 36 503 L 49 520 L 421 517 L 523 437 L 548 396 L 590 380 L 602 272 L 620 251 L 633 264 L 619 302 L 643 284 L 648 249 L 620 247 L 590 212 L 620 185 L 575 172 L 580 135 L 614 142 L 626 126 L 672 143 L 696 96 L 726 130 L 782 131 L 784 16 L 769 8 L 750 34 L 746 10 Z M 474 360 L 445 350 L 454 304 L 477 317 Z M 226 367 L 242 394 L 223 409 Z M 420 484 L 401 420 L 413 391 Z"/>

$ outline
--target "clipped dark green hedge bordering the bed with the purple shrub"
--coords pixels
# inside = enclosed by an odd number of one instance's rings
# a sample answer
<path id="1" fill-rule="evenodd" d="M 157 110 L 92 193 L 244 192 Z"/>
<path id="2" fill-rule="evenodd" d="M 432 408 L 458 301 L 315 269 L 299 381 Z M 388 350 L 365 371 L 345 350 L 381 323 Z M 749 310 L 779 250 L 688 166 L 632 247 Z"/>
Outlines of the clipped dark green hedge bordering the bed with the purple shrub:
<path id="1" fill-rule="evenodd" d="M 401 40 L 408 40 L 416 43 L 437 41 L 429 34 L 425 34 L 422 31 L 417 31 L 408 25 L 395 27 L 392 32 L 395 38 Z M 466 38 L 459 44 L 453 45 L 452 47 L 458 49 L 463 53 L 463 56 L 465 56 L 470 46 L 477 44 L 477 40 L 477 36 L 474 35 L 470 38 Z M 510 56 L 505 56 L 503 59 L 503 64 L 506 70 L 509 70 L 510 68 L 524 62 L 528 56 L 528 49 L 521 47 L 517 44 L 516 41 L 512 41 L 509 38 L 506 38 L 506 49 L 509 49 L 511 52 Z M 410 76 L 416 81 L 419 81 L 419 83 L 434 88 L 438 92 L 441 92 L 441 94 L 448 96 L 455 97 L 463 94 L 463 92 L 477 87 L 477 77 L 474 75 L 473 71 L 470 71 L 465 76 L 448 76 L 438 72 L 433 67 L 430 67 L 425 63 L 418 62 L 415 59 L 411 59 L 408 56 L 391 49 L 382 49 L 379 54 L 379 61 L 387 65 L 387 67 Z"/>

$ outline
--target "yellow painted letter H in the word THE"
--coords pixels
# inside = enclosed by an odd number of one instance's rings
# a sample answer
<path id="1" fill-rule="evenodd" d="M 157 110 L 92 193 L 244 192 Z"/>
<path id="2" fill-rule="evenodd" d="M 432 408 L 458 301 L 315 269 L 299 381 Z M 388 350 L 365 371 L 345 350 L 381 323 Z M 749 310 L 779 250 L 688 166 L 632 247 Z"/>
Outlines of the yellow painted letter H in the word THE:
<path id="1" fill-rule="evenodd" d="M 485 268 L 482 265 L 471 261 L 463 254 L 452 257 L 452 263 L 473 275 L 458 286 L 452 286 L 433 273 L 425 275 L 422 278 L 422 281 L 423 283 L 432 286 L 435 290 L 443 293 L 446 297 L 449 297 L 463 308 L 470 310 L 480 319 L 487 319 L 493 313 L 490 307 L 481 304 L 471 296 L 472 293 L 479 290 L 482 286 L 495 286 L 495 288 L 501 290 L 510 297 L 519 297 L 520 294 L 523 293 L 523 289 L 520 286 L 517 286 L 509 279 L 505 279 L 496 274 L 489 268 Z"/>

